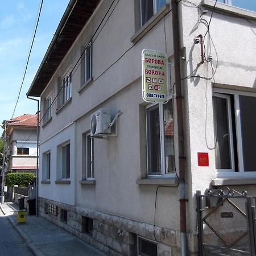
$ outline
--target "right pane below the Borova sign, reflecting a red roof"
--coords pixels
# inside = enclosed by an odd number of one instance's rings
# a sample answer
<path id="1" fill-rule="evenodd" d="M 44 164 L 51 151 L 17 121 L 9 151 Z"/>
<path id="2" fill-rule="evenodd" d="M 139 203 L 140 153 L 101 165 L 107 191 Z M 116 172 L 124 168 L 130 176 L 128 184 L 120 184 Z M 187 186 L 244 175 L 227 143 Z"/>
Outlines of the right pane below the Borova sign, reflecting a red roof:
<path id="1" fill-rule="evenodd" d="M 174 172 L 174 119 L 172 117 L 172 100 L 163 104 L 164 111 L 164 148 L 166 172 Z"/>

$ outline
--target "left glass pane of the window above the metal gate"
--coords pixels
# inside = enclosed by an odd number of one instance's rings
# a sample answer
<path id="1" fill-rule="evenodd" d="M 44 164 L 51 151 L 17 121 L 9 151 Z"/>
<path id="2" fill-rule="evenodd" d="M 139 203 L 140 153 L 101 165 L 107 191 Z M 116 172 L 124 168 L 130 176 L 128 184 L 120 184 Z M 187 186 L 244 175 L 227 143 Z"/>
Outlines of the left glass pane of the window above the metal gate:
<path id="1" fill-rule="evenodd" d="M 231 169 L 228 99 L 214 97 L 213 100 L 216 169 Z"/>

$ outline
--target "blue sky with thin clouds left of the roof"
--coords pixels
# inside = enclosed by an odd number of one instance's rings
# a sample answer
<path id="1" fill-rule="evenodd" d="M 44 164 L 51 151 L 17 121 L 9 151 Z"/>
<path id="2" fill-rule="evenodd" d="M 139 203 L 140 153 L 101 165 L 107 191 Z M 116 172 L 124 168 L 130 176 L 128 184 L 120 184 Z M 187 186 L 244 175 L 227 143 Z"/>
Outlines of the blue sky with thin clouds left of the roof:
<path id="1" fill-rule="evenodd" d="M 14 112 L 41 0 L 3 0 L 0 5 L 0 123 Z M 27 75 L 14 117 L 35 114 L 26 93 L 69 0 L 44 0 Z"/>

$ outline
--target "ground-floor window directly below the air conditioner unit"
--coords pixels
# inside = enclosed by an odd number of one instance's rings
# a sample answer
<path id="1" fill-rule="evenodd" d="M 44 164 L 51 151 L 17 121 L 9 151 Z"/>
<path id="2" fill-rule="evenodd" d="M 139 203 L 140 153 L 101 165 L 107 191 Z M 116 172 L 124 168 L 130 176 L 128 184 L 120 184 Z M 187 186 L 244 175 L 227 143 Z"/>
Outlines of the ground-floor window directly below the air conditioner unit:
<path id="1" fill-rule="evenodd" d="M 94 139 L 90 137 L 90 133 L 84 134 L 83 137 L 83 166 L 84 166 L 84 177 L 86 179 L 94 179 L 94 168 L 93 168 L 93 148 Z"/>

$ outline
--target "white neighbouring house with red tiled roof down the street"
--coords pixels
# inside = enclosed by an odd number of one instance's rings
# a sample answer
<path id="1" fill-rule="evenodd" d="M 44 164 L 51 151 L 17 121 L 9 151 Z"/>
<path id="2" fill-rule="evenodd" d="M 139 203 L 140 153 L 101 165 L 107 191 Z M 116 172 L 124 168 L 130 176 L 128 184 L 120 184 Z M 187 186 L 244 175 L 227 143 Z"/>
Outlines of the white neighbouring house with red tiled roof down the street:
<path id="1" fill-rule="evenodd" d="M 24 114 L 6 121 L 7 172 L 36 174 L 37 114 Z"/>

